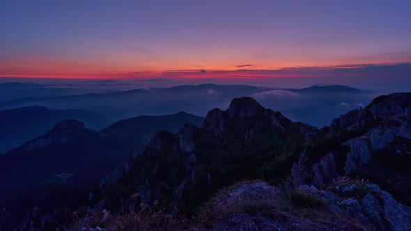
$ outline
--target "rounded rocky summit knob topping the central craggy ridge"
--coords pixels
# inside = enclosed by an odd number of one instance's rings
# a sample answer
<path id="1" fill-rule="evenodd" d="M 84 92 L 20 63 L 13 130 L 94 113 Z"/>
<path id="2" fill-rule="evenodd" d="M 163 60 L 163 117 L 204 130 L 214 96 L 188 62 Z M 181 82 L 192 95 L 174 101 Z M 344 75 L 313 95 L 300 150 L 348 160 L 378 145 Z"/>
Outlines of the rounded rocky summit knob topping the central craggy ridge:
<path id="1" fill-rule="evenodd" d="M 264 107 L 258 104 L 256 99 L 241 97 L 233 99 L 227 111 L 230 117 L 239 116 L 240 118 L 245 118 L 255 116 L 257 113 L 264 111 Z"/>

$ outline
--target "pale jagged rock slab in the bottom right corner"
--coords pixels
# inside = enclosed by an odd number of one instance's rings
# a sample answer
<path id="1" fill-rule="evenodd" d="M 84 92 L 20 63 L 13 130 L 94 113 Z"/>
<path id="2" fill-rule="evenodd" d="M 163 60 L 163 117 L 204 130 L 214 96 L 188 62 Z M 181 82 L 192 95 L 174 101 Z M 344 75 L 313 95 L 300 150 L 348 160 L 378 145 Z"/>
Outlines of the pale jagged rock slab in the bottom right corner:
<path id="1" fill-rule="evenodd" d="M 359 218 L 361 223 L 373 230 L 410 230 L 411 207 L 394 200 L 391 194 L 382 191 L 378 185 L 365 184 L 359 188 L 355 184 L 337 186 L 332 191 L 318 190 L 314 186 L 300 186 L 300 190 L 321 198 L 331 208 L 330 212 L 345 212 L 352 218 Z M 352 197 L 352 193 L 364 192 Z"/>

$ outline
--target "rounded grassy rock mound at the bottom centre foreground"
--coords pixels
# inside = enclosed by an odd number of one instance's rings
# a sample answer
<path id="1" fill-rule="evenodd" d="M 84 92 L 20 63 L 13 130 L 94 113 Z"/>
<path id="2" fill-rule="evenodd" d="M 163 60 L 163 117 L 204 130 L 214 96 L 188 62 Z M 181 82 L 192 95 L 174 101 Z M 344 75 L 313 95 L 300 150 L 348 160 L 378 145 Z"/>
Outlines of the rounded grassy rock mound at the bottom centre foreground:
<path id="1" fill-rule="evenodd" d="M 309 219 L 299 212 L 286 211 L 288 199 L 284 199 L 284 193 L 266 182 L 235 184 L 212 198 L 205 214 L 200 215 L 200 221 L 212 223 L 212 228 L 188 230 L 365 230 L 348 220 Z M 312 209 L 312 212 L 318 211 Z"/>

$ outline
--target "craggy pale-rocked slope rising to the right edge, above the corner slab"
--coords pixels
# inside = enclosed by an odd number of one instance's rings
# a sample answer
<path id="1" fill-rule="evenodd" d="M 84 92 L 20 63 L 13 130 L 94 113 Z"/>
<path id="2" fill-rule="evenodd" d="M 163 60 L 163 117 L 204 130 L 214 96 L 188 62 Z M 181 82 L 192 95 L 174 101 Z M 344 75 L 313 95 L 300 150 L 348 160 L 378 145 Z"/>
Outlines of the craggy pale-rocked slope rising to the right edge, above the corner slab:
<path id="1" fill-rule="evenodd" d="M 337 144 L 322 157 L 318 157 L 318 149 L 306 150 L 299 163 L 293 166 L 287 185 L 313 184 L 323 189 L 339 175 L 366 173 L 364 177 L 368 178 L 372 173 L 381 172 L 381 167 L 385 166 L 381 158 L 401 159 L 409 163 L 411 124 L 407 113 L 410 106 L 411 93 L 395 93 L 374 99 L 365 109 L 350 111 L 336 118 L 327 137 L 334 137 Z M 409 174 L 409 170 L 392 168 L 373 180 L 389 185 L 393 179 L 403 179 Z M 386 175 L 392 177 L 388 179 Z"/>

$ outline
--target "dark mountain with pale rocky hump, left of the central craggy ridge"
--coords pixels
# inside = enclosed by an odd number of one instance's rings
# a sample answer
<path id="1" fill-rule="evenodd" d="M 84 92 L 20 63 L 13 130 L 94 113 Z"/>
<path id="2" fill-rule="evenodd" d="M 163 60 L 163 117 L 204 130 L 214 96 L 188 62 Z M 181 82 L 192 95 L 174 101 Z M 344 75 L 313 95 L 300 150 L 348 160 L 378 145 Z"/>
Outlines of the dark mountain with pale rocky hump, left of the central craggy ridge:
<path id="1" fill-rule="evenodd" d="M 187 122 L 204 118 L 187 113 L 141 116 L 116 122 L 94 132 L 77 120 L 59 122 L 46 134 L 0 156 L 0 198 L 57 178 L 87 186 L 132 155 L 159 129 L 176 132 Z"/>

